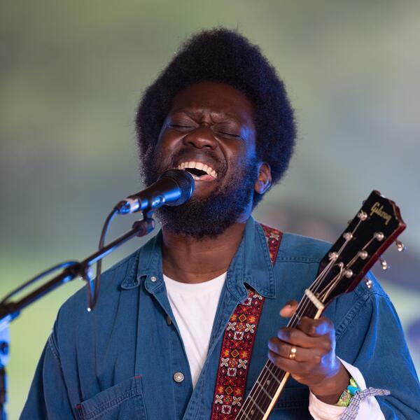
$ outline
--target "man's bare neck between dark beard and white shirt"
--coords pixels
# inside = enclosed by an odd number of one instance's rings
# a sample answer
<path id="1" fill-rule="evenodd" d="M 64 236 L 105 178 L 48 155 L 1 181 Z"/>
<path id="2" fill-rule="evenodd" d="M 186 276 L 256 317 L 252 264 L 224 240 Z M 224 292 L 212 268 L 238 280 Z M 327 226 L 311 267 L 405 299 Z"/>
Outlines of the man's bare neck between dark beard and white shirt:
<path id="1" fill-rule="evenodd" d="M 237 222 L 215 238 L 195 239 L 162 229 L 165 275 L 183 283 L 202 283 L 228 271 L 246 222 Z"/>

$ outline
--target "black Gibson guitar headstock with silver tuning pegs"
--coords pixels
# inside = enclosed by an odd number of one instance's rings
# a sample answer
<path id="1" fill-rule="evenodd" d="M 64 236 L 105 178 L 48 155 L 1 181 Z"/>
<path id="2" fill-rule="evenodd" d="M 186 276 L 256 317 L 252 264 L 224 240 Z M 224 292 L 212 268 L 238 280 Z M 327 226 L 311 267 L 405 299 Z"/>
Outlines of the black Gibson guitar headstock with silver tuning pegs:
<path id="1" fill-rule="evenodd" d="M 321 261 L 318 284 L 313 289 L 318 300 L 326 306 L 338 295 L 356 288 L 405 228 L 396 204 L 373 190 Z M 400 242 L 397 246 L 402 251 Z"/>

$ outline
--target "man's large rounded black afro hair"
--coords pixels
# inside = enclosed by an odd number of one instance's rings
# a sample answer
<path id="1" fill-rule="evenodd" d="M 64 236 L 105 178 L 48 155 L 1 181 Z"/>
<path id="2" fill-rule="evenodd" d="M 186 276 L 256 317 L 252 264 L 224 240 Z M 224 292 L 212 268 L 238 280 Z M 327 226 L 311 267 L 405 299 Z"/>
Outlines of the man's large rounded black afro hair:
<path id="1" fill-rule="evenodd" d="M 258 46 L 237 31 L 225 28 L 201 31 L 189 38 L 144 93 L 136 117 L 142 170 L 153 155 L 176 94 L 203 81 L 235 87 L 251 101 L 255 110 L 257 157 L 270 165 L 272 182 L 278 182 L 295 145 L 293 109 L 283 82 Z M 254 206 L 261 198 L 262 195 L 254 194 Z"/>

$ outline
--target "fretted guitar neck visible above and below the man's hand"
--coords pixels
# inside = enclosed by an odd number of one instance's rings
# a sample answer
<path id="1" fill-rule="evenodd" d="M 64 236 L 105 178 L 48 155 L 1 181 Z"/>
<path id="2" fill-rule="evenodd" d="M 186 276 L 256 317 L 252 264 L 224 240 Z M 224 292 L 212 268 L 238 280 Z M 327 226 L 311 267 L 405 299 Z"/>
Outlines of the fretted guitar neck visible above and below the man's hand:
<path id="1" fill-rule="evenodd" d="M 303 316 L 316 319 L 321 316 L 322 311 L 323 307 L 316 307 L 316 304 L 311 302 L 311 299 L 305 294 L 287 326 L 290 328 L 295 327 Z M 289 376 L 288 372 L 279 369 L 274 363 L 267 360 L 236 419 L 267 419 Z"/>

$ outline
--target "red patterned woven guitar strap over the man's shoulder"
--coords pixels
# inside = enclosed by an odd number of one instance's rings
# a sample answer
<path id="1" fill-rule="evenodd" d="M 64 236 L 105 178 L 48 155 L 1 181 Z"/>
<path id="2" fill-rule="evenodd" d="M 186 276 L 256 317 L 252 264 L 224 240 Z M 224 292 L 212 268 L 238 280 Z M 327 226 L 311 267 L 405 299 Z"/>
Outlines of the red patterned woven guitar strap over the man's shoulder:
<path id="1" fill-rule="evenodd" d="M 283 233 L 261 225 L 274 266 Z M 247 286 L 248 297 L 238 304 L 223 335 L 211 420 L 235 420 L 244 400 L 248 365 L 264 297 Z"/>

